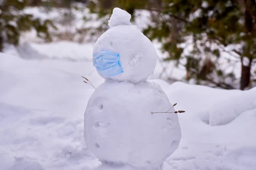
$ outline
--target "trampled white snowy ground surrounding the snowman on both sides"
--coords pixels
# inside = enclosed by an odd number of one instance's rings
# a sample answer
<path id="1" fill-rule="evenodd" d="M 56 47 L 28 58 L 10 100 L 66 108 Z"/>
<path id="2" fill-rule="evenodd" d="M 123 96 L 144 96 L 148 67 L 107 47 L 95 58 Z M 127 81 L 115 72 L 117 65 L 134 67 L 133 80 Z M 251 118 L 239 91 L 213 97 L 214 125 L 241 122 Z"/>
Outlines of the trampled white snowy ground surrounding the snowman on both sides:
<path id="1" fill-rule="evenodd" d="M 89 44 L 73 55 L 87 59 L 74 62 L 65 57 L 70 44 L 63 43 L 0 53 L 1 170 L 91 170 L 100 164 L 83 139 L 83 114 L 94 89 L 81 76 L 96 87 L 103 79 L 90 61 Z M 180 146 L 164 170 L 256 170 L 256 88 L 151 81 L 178 103 L 177 110 L 186 111 L 179 114 Z"/>

